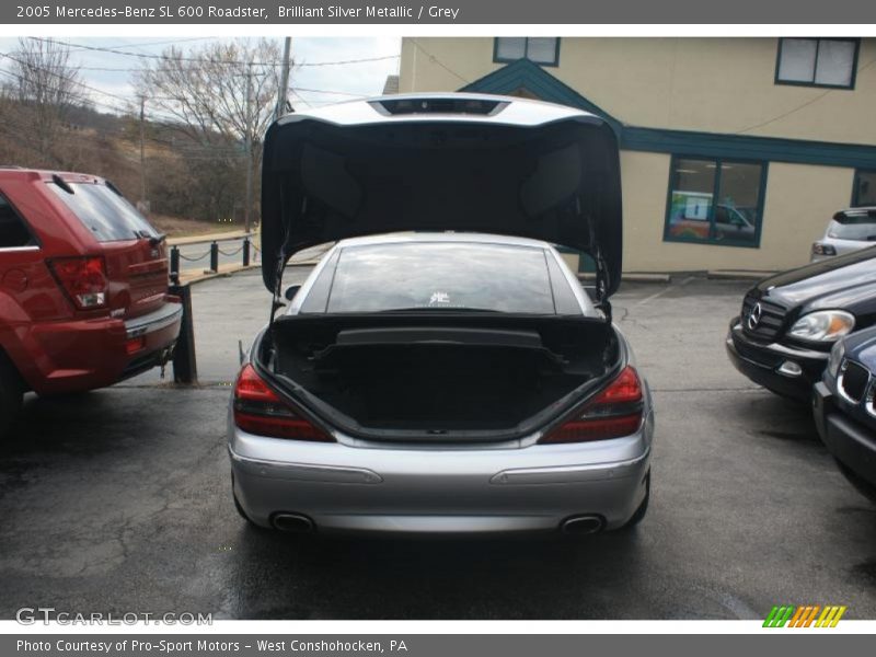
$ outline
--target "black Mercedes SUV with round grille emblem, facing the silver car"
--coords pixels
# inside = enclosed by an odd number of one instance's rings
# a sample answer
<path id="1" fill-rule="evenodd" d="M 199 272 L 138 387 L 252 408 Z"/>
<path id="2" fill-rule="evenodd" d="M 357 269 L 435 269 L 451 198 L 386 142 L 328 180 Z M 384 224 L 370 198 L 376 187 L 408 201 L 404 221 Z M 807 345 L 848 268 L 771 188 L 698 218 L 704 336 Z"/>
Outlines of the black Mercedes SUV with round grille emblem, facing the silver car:
<path id="1" fill-rule="evenodd" d="M 764 388 L 808 401 L 830 348 L 876 323 L 876 247 L 764 278 L 730 321 L 727 355 Z"/>

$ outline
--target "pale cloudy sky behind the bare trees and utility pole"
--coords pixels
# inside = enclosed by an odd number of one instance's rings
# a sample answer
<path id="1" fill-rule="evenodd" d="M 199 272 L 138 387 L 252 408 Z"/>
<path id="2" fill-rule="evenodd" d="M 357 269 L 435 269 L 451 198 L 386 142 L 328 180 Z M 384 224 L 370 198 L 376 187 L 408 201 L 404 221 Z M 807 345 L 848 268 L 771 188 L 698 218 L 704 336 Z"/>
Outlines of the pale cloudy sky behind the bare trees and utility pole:
<path id="1" fill-rule="evenodd" d="M 49 37 L 46 37 L 49 38 Z M 0 38 L 0 54 L 12 53 L 18 47 L 18 38 Z M 170 38 L 89 38 L 58 37 L 69 44 L 112 48 L 131 54 L 160 55 L 165 48 L 175 45 L 183 50 L 199 48 L 214 37 L 177 37 Z M 283 51 L 283 38 L 277 38 Z M 142 58 L 136 55 L 95 51 L 71 47 L 70 62 L 83 67 L 80 71 L 84 89 L 95 108 L 111 112 L 113 107 L 123 111 L 129 99 L 135 103 L 131 85 L 132 73 L 129 70 L 94 70 L 94 69 L 137 69 Z M 354 100 L 356 97 L 378 95 L 383 90 L 387 76 L 397 73 L 401 39 L 390 37 L 293 37 L 292 59 L 296 67 L 290 76 L 289 101 L 296 107 L 319 107 L 334 102 Z M 382 58 L 378 61 L 358 64 L 337 64 L 312 66 L 321 62 L 348 61 L 350 59 Z M 10 60 L 0 57 L 0 70 L 10 68 Z M 299 66 L 300 65 L 300 66 Z M 8 78 L 8 76 L 0 76 Z M 300 88 L 300 89 L 298 89 Z M 304 91 L 311 90 L 311 91 Z M 319 91 L 313 91 L 319 90 Z M 333 92 L 333 93 L 328 93 Z M 122 99 L 116 97 L 122 96 Z"/>

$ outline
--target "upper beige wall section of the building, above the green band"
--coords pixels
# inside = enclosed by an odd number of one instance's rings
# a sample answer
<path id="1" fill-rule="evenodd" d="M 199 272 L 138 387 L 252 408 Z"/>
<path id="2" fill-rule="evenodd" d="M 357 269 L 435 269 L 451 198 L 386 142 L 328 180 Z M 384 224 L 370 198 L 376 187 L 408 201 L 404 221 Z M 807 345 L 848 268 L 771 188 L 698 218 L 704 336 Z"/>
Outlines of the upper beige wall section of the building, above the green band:
<path id="1" fill-rule="evenodd" d="M 862 41 L 853 91 L 775 84 L 776 48 L 775 38 L 563 37 L 560 66 L 545 70 L 631 125 L 876 145 L 876 39 Z M 500 66 L 492 37 L 410 37 L 400 91 L 457 90 Z"/>

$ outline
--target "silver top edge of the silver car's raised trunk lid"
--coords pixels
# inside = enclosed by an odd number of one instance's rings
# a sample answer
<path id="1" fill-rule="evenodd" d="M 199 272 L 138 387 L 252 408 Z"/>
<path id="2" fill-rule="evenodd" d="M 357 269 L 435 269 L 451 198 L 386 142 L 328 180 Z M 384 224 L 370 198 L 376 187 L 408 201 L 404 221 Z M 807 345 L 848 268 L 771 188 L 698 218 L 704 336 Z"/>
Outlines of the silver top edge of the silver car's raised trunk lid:
<path id="1" fill-rule="evenodd" d="M 435 107 L 430 111 L 402 111 L 393 113 L 388 107 L 396 107 L 400 103 L 413 101 L 413 104 L 429 104 Z M 465 102 L 483 104 L 484 112 L 465 111 Z M 452 106 L 448 103 L 456 103 Z M 445 110 L 441 110 L 445 107 Z M 450 107 L 450 108 L 447 108 Z M 492 110 L 491 110 L 492 107 Z M 557 120 L 578 118 L 596 124 L 604 123 L 601 117 L 569 107 L 521 99 L 519 96 L 504 96 L 479 93 L 406 93 L 374 96 L 365 100 L 335 103 L 324 107 L 308 108 L 301 112 L 287 114 L 277 120 L 277 124 L 293 123 L 308 118 L 333 123 L 341 126 L 356 126 L 376 123 L 410 123 L 410 122 L 465 122 L 483 124 L 503 124 L 512 126 L 539 126 Z"/>

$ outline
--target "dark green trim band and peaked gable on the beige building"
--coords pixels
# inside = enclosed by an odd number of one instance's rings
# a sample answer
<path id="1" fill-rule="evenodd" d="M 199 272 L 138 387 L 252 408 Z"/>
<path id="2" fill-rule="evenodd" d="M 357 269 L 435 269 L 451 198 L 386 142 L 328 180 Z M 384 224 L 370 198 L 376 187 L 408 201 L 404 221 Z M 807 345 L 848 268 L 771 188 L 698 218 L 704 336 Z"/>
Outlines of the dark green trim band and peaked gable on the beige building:
<path id="1" fill-rule="evenodd" d="M 460 91 L 507 95 L 521 89 L 544 101 L 601 116 L 624 150 L 876 170 L 876 146 L 625 125 L 528 59 L 496 69 Z"/>

